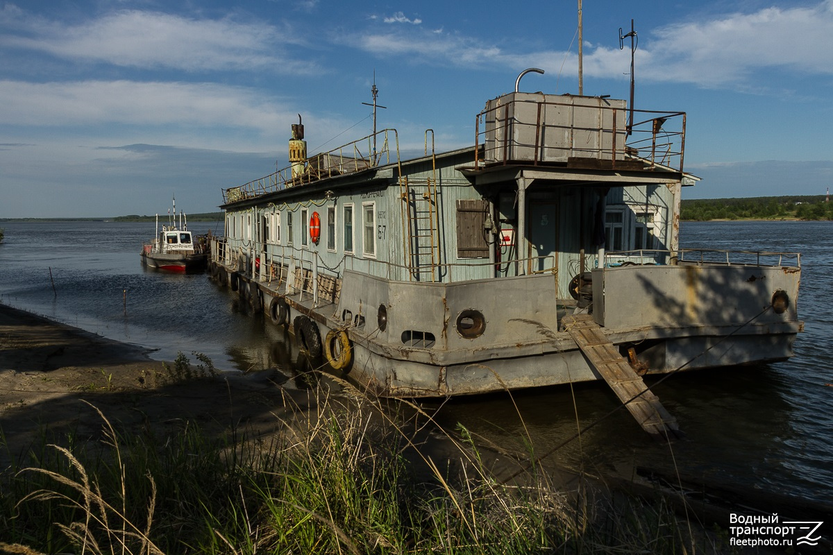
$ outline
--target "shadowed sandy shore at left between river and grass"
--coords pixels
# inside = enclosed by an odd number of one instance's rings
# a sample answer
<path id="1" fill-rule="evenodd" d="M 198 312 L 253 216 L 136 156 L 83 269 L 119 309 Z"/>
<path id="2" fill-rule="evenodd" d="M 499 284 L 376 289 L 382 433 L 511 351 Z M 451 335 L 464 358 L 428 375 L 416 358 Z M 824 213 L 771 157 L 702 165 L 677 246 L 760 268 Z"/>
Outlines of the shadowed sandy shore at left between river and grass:
<path id="1" fill-rule="evenodd" d="M 135 345 L 0 305 L 0 464 L 22 460 L 44 432 L 47 440 L 67 431 L 100 437 L 103 422 L 90 404 L 120 429 L 198 424 L 207 434 L 270 434 L 315 404 L 307 392 L 282 388 L 277 372 L 179 384 L 168 374 Z"/>

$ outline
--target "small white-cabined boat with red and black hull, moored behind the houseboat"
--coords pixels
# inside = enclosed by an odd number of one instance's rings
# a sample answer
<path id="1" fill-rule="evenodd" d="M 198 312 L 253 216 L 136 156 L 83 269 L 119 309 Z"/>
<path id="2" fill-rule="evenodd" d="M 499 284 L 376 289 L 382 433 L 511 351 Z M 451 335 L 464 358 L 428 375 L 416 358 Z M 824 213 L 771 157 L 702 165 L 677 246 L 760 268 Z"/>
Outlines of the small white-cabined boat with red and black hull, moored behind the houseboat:
<path id="1" fill-rule="evenodd" d="M 168 225 L 159 229 L 157 214 L 157 233 L 153 240 L 142 245 L 142 261 L 151 268 L 172 272 L 187 273 L 205 270 L 207 262 L 207 236 L 194 237 L 188 230 L 187 219 L 180 214 L 177 225 L 176 201 L 174 201 L 173 218 Z"/>

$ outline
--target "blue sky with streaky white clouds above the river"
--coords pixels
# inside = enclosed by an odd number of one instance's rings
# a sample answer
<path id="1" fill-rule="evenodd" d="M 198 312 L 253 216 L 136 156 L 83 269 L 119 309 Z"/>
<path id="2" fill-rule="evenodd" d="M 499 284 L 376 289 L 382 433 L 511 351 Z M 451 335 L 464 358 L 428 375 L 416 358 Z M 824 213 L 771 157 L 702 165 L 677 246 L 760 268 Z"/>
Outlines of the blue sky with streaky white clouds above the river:
<path id="1" fill-rule="evenodd" d="M 470 146 L 486 100 L 577 93 L 577 2 L 0 3 L 0 217 L 217 210 L 221 189 L 394 127 Z M 684 198 L 821 195 L 833 181 L 833 0 L 584 0 L 584 92 L 686 111 Z"/>

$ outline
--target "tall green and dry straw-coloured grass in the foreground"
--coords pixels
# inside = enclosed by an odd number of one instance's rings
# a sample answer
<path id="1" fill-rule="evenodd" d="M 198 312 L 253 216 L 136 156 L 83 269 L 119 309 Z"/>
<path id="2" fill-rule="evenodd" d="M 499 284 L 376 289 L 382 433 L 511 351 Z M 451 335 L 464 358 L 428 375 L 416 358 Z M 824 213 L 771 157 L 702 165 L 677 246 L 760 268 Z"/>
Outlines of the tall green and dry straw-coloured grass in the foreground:
<path id="1" fill-rule="evenodd" d="M 280 438 L 126 434 L 99 414 L 102 439 L 2 473 L 0 553 L 698 552 L 666 508 L 567 497 L 534 469 L 502 485 L 465 430 L 443 472 L 369 402 L 321 399 Z"/>

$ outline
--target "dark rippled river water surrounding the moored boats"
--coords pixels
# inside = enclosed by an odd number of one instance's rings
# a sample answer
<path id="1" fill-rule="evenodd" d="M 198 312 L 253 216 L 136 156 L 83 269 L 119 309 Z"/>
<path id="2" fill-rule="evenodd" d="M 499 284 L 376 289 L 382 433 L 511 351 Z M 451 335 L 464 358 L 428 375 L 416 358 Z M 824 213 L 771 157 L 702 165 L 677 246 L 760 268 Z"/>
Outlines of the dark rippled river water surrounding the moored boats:
<path id="1" fill-rule="evenodd" d="M 156 349 L 157 359 L 196 352 L 219 369 L 278 368 L 287 376 L 299 364 L 285 331 L 250 314 L 237 295 L 206 275 L 142 266 L 140 247 L 153 235 L 153 224 L 0 227 L 6 230 L 0 244 L 4 304 Z M 215 223 L 189 229 L 222 235 Z M 561 446 L 616 407 L 615 395 L 602 384 L 451 399 L 428 408 L 441 424 L 462 424 L 502 448 L 523 452 L 531 445 L 547 463 L 591 473 L 679 472 L 694 482 L 831 502 L 833 387 L 826 384 L 833 384 L 833 222 L 685 222 L 681 246 L 801 252 L 797 306 L 806 322 L 789 361 L 675 374 L 653 387 L 686 439 L 656 444 L 630 414 L 618 411 Z"/>

